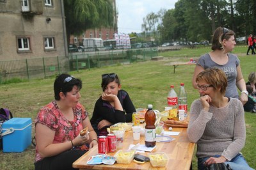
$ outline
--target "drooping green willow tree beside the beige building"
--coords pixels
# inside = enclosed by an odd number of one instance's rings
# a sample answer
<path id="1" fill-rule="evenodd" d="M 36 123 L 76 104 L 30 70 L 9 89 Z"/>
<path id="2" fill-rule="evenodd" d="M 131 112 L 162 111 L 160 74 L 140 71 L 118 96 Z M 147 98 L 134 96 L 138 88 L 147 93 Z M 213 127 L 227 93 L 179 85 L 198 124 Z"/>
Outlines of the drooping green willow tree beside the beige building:
<path id="1" fill-rule="evenodd" d="M 63 0 L 67 40 L 89 28 L 113 26 L 111 0 Z M 69 41 L 68 41 L 69 42 Z"/>

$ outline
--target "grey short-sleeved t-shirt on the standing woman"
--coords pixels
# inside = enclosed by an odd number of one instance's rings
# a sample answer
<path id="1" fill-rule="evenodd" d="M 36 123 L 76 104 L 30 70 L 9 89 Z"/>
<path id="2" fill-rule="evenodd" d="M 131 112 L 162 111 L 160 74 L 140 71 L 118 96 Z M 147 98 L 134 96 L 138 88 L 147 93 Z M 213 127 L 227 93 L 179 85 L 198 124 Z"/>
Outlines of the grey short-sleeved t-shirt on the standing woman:
<path id="1" fill-rule="evenodd" d="M 236 88 L 236 77 L 237 77 L 237 66 L 240 61 L 234 54 L 228 54 L 228 62 L 225 65 L 218 65 L 214 61 L 212 61 L 209 53 L 204 54 L 198 59 L 197 65 L 202 66 L 204 69 L 206 68 L 220 68 L 225 72 L 228 79 L 228 86 L 226 89 L 226 97 L 239 98 L 239 94 Z"/>

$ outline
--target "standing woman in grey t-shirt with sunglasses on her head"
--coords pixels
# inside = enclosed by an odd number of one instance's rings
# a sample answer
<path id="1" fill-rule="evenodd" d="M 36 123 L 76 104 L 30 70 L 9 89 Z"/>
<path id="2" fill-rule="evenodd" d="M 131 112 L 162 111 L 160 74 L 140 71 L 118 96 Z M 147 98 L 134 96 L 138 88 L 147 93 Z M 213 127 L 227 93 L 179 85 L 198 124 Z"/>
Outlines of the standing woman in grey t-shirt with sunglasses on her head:
<path id="1" fill-rule="evenodd" d="M 240 100 L 244 105 L 248 100 L 248 91 L 239 65 L 240 61 L 234 54 L 230 54 L 236 45 L 234 31 L 225 27 L 218 27 L 212 36 L 212 51 L 204 54 L 198 60 L 193 75 L 193 87 L 196 89 L 196 75 L 206 68 L 217 67 L 225 72 L 228 79 L 226 97 L 239 98 L 237 88 L 241 91 Z"/>

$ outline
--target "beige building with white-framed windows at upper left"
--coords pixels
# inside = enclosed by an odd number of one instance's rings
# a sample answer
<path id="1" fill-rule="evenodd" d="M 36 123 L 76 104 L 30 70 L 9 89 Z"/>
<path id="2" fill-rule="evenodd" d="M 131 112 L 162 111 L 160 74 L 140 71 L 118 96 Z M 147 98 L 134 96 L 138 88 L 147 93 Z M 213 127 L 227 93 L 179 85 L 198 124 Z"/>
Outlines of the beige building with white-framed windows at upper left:
<path id="1" fill-rule="evenodd" d="M 0 0 L 0 61 L 67 52 L 62 0 Z"/>

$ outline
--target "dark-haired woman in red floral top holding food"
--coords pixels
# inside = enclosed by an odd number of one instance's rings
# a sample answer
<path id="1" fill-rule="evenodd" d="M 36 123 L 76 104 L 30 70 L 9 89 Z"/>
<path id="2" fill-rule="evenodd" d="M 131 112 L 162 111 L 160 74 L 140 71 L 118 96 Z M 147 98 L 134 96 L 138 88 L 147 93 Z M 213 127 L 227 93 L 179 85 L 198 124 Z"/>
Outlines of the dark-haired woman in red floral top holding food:
<path id="1" fill-rule="evenodd" d="M 93 146 L 97 134 L 88 114 L 79 103 L 82 82 L 61 74 L 54 82 L 55 100 L 39 112 L 35 120 L 35 169 L 73 169 L 72 164 Z M 89 134 L 79 135 L 88 127 Z"/>

